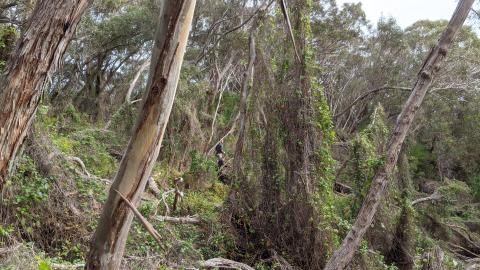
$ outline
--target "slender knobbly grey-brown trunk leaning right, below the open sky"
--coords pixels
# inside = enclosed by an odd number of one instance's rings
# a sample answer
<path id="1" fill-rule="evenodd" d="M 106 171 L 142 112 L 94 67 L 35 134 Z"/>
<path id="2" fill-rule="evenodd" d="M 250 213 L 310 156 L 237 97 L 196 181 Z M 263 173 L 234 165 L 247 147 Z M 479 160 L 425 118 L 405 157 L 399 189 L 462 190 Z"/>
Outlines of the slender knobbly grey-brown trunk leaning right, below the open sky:
<path id="1" fill-rule="evenodd" d="M 447 28 L 438 40 L 437 45 L 432 49 L 425 60 L 412 93 L 405 103 L 402 112 L 398 116 L 395 129 L 390 137 L 387 149 L 385 164 L 376 172 L 370 190 L 363 201 L 362 208 L 352 229 L 347 234 L 343 243 L 338 248 L 325 266 L 325 270 L 344 269 L 355 255 L 363 235 L 372 224 L 373 217 L 377 211 L 380 199 L 387 186 L 388 177 L 391 175 L 398 159 L 398 154 L 403 141 L 413 122 L 418 108 L 430 87 L 434 76 L 440 69 L 440 62 L 445 58 L 450 45 L 456 34 L 462 27 L 474 0 L 460 0 Z"/>

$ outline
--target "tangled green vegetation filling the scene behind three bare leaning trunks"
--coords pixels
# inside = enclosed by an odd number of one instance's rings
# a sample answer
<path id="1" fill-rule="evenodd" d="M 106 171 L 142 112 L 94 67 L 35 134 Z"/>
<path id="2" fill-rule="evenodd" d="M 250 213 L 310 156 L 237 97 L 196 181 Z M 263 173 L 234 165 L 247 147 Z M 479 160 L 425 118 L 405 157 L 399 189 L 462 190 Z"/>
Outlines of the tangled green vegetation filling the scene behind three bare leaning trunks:
<path id="1" fill-rule="evenodd" d="M 23 22 L 26 2 L 5 14 Z M 0 269 L 85 263 L 143 106 L 148 68 L 131 83 L 150 55 L 157 2 L 94 1 L 86 12 L 0 192 Z M 160 155 L 137 205 L 160 241 L 135 218 L 123 267 L 227 258 L 255 269 L 322 269 L 385 164 L 411 83 L 447 22 L 373 25 L 360 4 L 295 0 L 288 29 L 277 2 L 265 13 L 257 1 L 198 2 Z M 475 23 L 462 29 L 419 109 L 349 269 L 430 270 L 440 255 L 445 269 L 464 269 L 478 258 Z M 0 22 L 0 72 L 21 31 L 15 20 Z M 245 81 L 250 34 L 256 59 Z"/>

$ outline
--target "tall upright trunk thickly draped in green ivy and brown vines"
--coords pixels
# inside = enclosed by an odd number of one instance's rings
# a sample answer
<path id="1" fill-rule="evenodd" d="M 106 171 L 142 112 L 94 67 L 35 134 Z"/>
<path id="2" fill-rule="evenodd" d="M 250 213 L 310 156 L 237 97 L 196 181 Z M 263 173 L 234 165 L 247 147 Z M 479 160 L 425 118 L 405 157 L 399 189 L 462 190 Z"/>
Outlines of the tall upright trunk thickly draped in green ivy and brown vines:
<path id="1" fill-rule="evenodd" d="M 283 248 L 296 265 L 320 269 L 332 245 L 332 231 L 328 226 L 322 229 L 319 226 L 329 223 L 326 220 L 329 214 L 323 210 L 328 209 L 331 202 L 328 198 L 333 183 L 329 182 L 328 174 L 332 165 L 333 125 L 323 89 L 314 76 L 318 70 L 310 25 L 313 2 L 298 0 L 293 4 L 293 32 L 300 59 L 295 57 L 295 48 L 290 48 L 290 58 L 284 66 L 294 61 L 286 71 L 292 79 L 290 83 L 282 83 L 279 91 L 282 103 L 278 116 L 286 159 L 286 206 L 278 210 L 284 224 L 282 236 L 277 238 L 280 239 L 278 245 L 283 242 Z"/>

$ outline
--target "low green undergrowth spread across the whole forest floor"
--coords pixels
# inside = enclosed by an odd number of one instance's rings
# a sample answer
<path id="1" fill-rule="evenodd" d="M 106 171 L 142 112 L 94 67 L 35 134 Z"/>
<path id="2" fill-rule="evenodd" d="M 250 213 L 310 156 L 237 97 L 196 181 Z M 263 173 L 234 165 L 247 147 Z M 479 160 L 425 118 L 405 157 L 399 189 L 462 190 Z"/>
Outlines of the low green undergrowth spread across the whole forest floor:
<path id="1" fill-rule="evenodd" d="M 75 265 L 82 265 L 106 200 L 108 180 L 114 176 L 127 141 L 123 132 L 90 124 L 88 116 L 73 106 L 67 106 L 58 115 L 49 115 L 48 111 L 47 106 L 39 109 L 29 139 L 35 138 L 43 144 L 27 143 L 16 172 L 2 194 L 0 241 L 2 246 L 11 246 L 14 250 L 8 256 L 0 254 L 1 269 L 18 269 L 18 265 L 23 265 L 22 269 L 55 269 L 59 265 L 73 269 Z M 382 162 L 381 153 L 388 134 L 383 117 L 379 107 L 371 124 L 352 139 L 348 147 L 351 158 L 338 177 L 355 192 L 334 193 L 329 199 L 333 204 L 330 214 L 338 223 L 332 230 L 338 237 L 350 228 L 368 190 L 368 181 Z M 404 152 L 405 162 L 410 165 L 407 168 L 399 165 L 389 186 L 389 195 L 362 243 L 353 269 L 402 269 L 398 256 L 406 252 L 404 249 L 409 249 L 412 253 L 409 260 L 420 267 L 426 260 L 424 254 L 437 246 L 451 251 L 445 255 L 448 269 L 462 269 L 459 256 L 468 254 L 459 247 L 470 241 L 471 248 L 476 248 L 480 213 L 475 192 L 465 182 L 454 179 L 419 181 L 431 170 L 428 164 L 432 157 L 420 143 L 409 145 Z M 71 157 L 80 158 L 86 171 Z M 45 159 L 57 164 L 49 164 Z M 174 196 L 166 196 L 164 201 L 162 196 L 147 190 L 139 210 L 161 234 L 162 244 L 135 221 L 124 264 L 132 269 L 158 266 L 169 269 L 168 266 L 194 265 L 208 258 L 225 257 L 248 261 L 258 269 L 275 269 L 275 262 L 255 251 L 269 250 L 265 242 L 255 244 L 252 240 L 249 245 L 253 246 L 239 245 L 238 241 L 248 237 L 239 236 L 238 228 L 231 223 L 230 187 L 216 179 L 215 161 L 195 151 L 189 160 L 190 165 L 183 172 L 169 168 L 167 162 L 157 163 L 153 179 L 162 192 L 173 188 L 173 179 L 179 176 L 186 179 L 188 188 L 184 189 L 184 197 L 175 212 L 166 207 L 173 204 Z M 50 168 L 52 166 L 61 170 Z M 406 191 L 399 180 L 405 177 L 402 170 L 408 170 Z M 423 186 L 419 189 L 414 185 Z M 426 193 L 436 190 L 441 199 L 412 206 L 411 200 L 427 196 L 420 192 L 421 188 L 431 189 L 423 190 Z M 202 223 L 169 224 L 158 221 L 159 215 L 197 216 Z M 247 235 L 258 237 L 253 227 L 249 230 L 252 231 L 247 230 Z M 288 259 L 288 254 L 283 256 Z"/>

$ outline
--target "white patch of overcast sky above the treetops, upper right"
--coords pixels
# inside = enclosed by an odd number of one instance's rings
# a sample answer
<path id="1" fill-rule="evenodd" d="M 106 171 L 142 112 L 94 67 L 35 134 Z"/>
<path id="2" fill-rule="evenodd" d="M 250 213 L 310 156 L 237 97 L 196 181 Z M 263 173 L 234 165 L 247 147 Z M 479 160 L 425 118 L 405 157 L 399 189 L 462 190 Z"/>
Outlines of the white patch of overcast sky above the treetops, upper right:
<path id="1" fill-rule="evenodd" d="M 394 17 L 402 28 L 423 19 L 448 20 L 457 6 L 457 0 L 337 0 L 339 6 L 347 2 L 361 2 L 367 19 L 374 25 L 383 15 Z"/>

